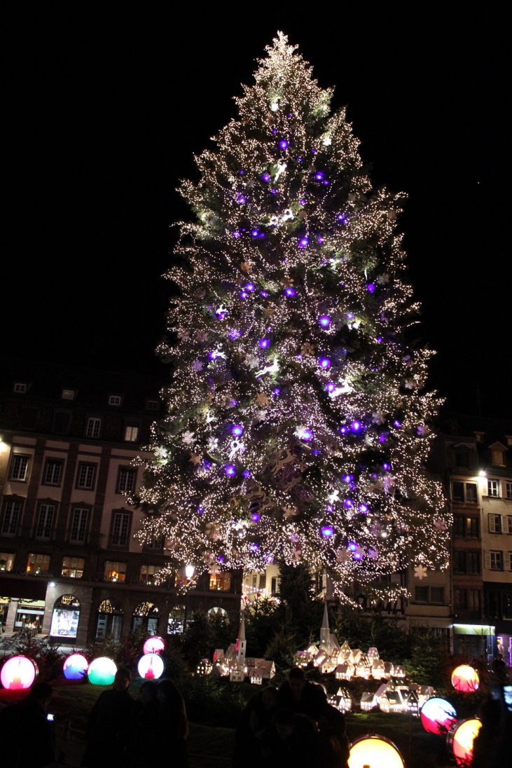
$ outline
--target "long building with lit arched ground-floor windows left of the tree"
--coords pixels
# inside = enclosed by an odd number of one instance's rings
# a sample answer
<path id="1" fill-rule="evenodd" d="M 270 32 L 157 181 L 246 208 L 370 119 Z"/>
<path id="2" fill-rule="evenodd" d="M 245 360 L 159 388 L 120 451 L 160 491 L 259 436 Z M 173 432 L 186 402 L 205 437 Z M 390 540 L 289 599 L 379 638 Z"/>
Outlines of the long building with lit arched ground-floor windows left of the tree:
<path id="1" fill-rule="evenodd" d="M 204 608 L 238 621 L 240 574 L 157 586 L 166 542 L 143 546 L 127 504 L 162 407 L 144 376 L 4 359 L 0 370 L 0 623 L 84 646 L 147 627 L 180 631 Z"/>

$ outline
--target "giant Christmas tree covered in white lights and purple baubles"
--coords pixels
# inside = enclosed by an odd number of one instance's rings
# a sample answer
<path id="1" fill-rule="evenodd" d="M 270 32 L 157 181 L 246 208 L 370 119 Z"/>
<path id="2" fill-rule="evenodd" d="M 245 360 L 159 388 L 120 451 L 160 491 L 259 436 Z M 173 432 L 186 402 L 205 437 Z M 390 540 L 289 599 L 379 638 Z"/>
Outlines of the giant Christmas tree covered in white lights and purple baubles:
<path id="1" fill-rule="evenodd" d="M 134 501 L 169 570 L 305 562 L 335 590 L 443 566 L 441 487 L 424 470 L 430 353 L 405 329 L 403 196 L 372 190 L 345 112 L 330 113 L 279 34 L 239 117 L 183 197 L 169 313 L 167 416 Z"/>

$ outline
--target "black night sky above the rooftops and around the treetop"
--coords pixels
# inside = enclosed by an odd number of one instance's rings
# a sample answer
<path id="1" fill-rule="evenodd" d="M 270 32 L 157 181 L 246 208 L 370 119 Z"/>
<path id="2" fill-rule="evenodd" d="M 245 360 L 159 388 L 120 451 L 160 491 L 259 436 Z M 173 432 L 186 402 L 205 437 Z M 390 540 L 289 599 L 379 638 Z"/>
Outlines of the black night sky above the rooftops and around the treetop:
<path id="1" fill-rule="evenodd" d="M 167 376 L 177 182 L 282 29 L 348 104 L 374 184 L 409 196 L 429 386 L 512 418 L 505 4 L 102 5 L 9 22 L 2 353 Z"/>

